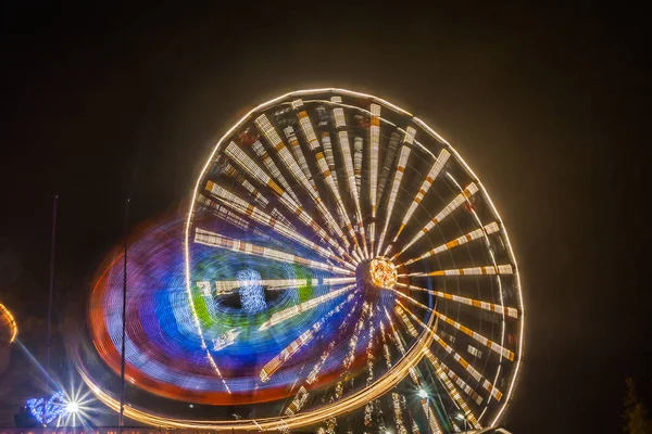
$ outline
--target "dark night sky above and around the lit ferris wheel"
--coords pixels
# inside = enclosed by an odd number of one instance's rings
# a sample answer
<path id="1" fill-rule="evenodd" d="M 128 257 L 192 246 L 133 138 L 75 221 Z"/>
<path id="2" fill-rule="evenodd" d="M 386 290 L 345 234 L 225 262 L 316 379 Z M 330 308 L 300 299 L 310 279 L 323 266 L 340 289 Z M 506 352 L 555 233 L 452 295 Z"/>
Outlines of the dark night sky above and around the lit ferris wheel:
<path id="1" fill-rule="evenodd" d="M 527 335 L 507 426 L 619 432 L 625 378 L 652 376 L 644 14 L 373 4 L 4 2 L 0 298 L 45 315 L 54 192 L 62 303 L 120 240 L 124 197 L 135 224 L 176 209 L 238 114 L 312 86 L 367 91 L 460 151 L 513 239 Z"/>

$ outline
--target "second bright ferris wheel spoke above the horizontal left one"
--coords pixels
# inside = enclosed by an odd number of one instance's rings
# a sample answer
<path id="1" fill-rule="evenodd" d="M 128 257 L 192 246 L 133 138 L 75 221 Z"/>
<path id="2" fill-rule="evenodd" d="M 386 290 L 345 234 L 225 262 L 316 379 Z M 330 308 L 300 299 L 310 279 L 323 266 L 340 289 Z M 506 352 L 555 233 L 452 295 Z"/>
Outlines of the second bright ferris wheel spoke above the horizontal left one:
<path id="1" fill-rule="evenodd" d="M 333 252 L 308 240 L 306 238 L 299 234 L 299 232 L 297 230 L 294 230 L 293 228 L 289 228 L 289 227 L 285 226 L 283 222 L 277 220 L 275 217 L 269 216 L 268 214 L 259 209 L 256 206 L 249 204 L 247 201 L 244 201 L 241 197 L 239 197 L 238 195 L 229 192 L 225 188 L 217 186 L 213 181 L 206 182 L 206 190 L 212 195 L 214 195 L 223 205 L 225 205 L 231 209 L 235 209 L 237 213 L 239 213 L 242 216 L 249 217 L 251 220 L 255 221 L 256 224 L 264 226 L 265 228 L 272 229 L 274 232 L 278 233 L 279 235 L 285 237 L 286 239 L 288 239 L 290 241 L 297 242 L 298 244 L 309 248 L 312 252 L 317 253 L 319 256 L 322 256 L 324 258 L 335 260 L 351 270 L 355 269 L 351 264 L 347 263 L 346 260 L 343 260 L 340 257 L 333 254 Z"/>

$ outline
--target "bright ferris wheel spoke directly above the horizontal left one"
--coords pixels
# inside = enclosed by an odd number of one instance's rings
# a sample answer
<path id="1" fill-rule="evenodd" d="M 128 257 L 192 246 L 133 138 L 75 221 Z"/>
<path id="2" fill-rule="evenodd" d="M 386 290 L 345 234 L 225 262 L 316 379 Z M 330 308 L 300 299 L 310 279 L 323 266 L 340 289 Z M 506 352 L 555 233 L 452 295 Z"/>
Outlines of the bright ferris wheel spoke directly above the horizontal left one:
<path id="1" fill-rule="evenodd" d="M 316 260 L 306 259 L 304 257 L 292 255 L 290 253 L 277 251 L 274 248 L 263 247 L 263 246 L 260 246 L 256 244 L 236 240 L 236 239 L 225 237 L 220 233 L 206 231 L 206 230 L 203 230 L 200 228 L 197 228 L 197 230 L 196 230 L 195 242 L 198 244 L 204 244 L 204 245 L 209 245 L 212 247 L 224 248 L 224 250 L 228 250 L 231 252 L 241 253 L 244 255 L 251 255 L 251 256 L 263 257 L 265 259 L 277 260 L 279 263 L 302 265 L 302 266 L 305 266 L 309 268 L 323 270 L 323 271 L 329 271 L 329 272 L 339 273 L 339 275 L 343 275 L 343 276 L 353 275 L 353 271 L 344 269 L 344 268 L 322 264 Z"/>

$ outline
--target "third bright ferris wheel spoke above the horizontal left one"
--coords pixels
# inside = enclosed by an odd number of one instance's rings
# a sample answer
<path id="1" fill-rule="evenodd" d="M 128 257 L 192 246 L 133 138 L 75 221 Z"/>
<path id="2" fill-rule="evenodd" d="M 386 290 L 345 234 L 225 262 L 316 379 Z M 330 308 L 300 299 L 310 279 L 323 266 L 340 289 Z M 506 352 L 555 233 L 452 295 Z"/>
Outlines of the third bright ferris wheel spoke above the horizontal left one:
<path id="1" fill-rule="evenodd" d="M 263 169 L 258 166 L 253 159 L 251 159 L 235 142 L 230 142 L 224 150 L 225 154 L 234 159 L 244 171 L 247 171 L 250 176 L 256 179 L 263 186 L 268 187 L 280 200 L 286 208 L 288 208 L 291 213 L 293 213 L 305 226 L 311 228 L 317 235 L 326 240 L 328 244 L 330 244 L 335 250 L 342 255 L 343 257 L 352 259 L 347 252 L 337 243 L 335 240 L 328 235 L 328 233 L 322 229 L 316 221 L 313 220 L 312 217 L 308 215 L 308 213 L 303 209 L 303 207 L 299 206 L 289 194 L 284 191 L 268 175 L 264 173 Z M 341 237 L 344 234 L 337 228 Z M 337 232 L 336 232 L 337 233 Z"/>

